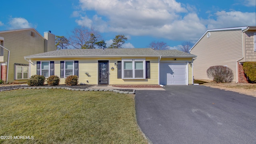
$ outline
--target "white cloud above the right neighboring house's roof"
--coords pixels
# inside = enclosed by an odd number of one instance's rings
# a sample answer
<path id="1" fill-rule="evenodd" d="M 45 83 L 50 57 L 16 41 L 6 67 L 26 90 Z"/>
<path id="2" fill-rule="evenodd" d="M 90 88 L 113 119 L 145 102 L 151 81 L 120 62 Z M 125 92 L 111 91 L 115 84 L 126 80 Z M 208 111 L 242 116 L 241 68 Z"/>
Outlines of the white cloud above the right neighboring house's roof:
<path id="1" fill-rule="evenodd" d="M 252 12 L 226 12 L 220 11 L 216 12 L 216 20 L 208 19 L 205 23 L 208 24 L 208 29 L 213 28 L 228 28 L 236 26 L 254 26 L 255 25 L 255 15 Z"/>

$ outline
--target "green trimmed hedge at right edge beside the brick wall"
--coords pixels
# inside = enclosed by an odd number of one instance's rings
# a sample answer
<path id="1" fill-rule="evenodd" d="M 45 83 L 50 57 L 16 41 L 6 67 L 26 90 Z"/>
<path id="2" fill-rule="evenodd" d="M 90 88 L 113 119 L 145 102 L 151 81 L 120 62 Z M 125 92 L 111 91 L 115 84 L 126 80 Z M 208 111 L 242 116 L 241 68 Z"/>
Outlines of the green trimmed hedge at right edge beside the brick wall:
<path id="1" fill-rule="evenodd" d="M 244 62 L 244 73 L 252 83 L 256 83 L 256 62 Z"/>

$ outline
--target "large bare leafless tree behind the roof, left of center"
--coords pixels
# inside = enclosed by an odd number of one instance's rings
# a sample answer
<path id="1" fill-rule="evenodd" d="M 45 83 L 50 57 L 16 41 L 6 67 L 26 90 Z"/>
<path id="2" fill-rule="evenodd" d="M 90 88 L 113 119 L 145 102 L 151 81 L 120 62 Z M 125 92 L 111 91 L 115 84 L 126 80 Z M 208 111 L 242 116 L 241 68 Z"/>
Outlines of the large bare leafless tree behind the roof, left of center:
<path id="1" fill-rule="evenodd" d="M 96 40 L 101 38 L 98 31 L 93 28 L 88 29 L 85 26 L 76 27 L 71 33 L 69 36 L 70 45 L 77 49 L 95 48 Z"/>

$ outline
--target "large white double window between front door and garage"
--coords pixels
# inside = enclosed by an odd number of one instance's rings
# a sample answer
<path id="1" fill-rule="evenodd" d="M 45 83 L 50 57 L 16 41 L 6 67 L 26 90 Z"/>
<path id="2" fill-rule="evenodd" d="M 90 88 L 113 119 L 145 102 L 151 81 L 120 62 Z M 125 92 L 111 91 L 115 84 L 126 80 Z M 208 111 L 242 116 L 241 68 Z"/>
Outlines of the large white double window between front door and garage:
<path id="1" fill-rule="evenodd" d="M 145 79 L 145 60 L 122 60 L 122 79 Z"/>

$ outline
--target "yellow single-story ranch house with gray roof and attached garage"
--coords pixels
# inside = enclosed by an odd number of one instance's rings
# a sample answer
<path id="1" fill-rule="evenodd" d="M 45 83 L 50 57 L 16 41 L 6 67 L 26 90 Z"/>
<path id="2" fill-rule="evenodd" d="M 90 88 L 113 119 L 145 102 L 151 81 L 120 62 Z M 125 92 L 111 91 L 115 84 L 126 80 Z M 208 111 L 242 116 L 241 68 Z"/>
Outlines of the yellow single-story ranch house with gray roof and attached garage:
<path id="1" fill-rule="evenodd" d="M 65 78 L 77 75 L 80 84 L 193 84 L 193 54 L 151 48 L 69 49 L 24 57 L 30 76 Z"/>

